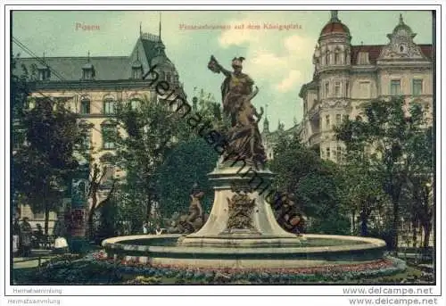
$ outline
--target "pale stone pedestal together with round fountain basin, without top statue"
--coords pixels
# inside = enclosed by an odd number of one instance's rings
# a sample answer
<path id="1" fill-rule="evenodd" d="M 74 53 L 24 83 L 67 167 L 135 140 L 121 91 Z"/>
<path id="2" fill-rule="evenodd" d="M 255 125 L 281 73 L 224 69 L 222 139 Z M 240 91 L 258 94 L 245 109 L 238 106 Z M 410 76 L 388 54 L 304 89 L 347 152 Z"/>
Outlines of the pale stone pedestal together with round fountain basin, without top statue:
<path id="1" fill-rule="evenodd" d="M 196 233 L 109 238 L 103 241 L 106 256 L 150 265 L 230 269 L 315 267 L 383 258 L 385 243 L 379 239 L 286 232 L 263 192 L 273 173 L 262 169 L 246 175 L 250 170 L 244 173 L 240 165 L 219 164 L 209 174 L 214 203 Z"/>

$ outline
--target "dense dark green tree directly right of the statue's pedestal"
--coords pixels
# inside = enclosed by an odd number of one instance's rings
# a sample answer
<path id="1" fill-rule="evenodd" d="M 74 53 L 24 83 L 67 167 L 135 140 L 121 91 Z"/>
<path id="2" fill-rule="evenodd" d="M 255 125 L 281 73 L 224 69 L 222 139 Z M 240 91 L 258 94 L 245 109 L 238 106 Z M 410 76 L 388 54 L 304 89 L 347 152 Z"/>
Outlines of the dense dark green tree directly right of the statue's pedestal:
<path id="1" fill-rule="evenodd" d="M 335 163 L 320 159 L 297 138 L 282 137 L 274 152 L 270 164 L 277 174 L 274 186 L 278 191 L 295 194 L 301 211 L 311 219 L 309 231 L 348 234 L 350 225 L 340 204 Z"/>

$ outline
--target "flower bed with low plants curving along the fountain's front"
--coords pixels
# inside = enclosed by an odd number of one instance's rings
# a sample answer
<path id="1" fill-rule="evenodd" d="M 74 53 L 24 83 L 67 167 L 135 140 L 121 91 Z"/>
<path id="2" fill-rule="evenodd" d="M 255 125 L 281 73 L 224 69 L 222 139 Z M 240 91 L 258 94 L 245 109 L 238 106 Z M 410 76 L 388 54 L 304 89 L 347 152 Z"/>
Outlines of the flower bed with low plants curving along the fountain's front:
<path id="1" fill-rule="evenodd" d="M 103 252 L 83 258 L 61 256 L 45 262 L 29 276 L 29 284 L 334 284 L 385 282 L 386 276 L 406 269 L 395 258 L 368 263 L 351 263 L 299 269 L 199 269 L 153 266 L 136 261 L 113 261 Z"/>

